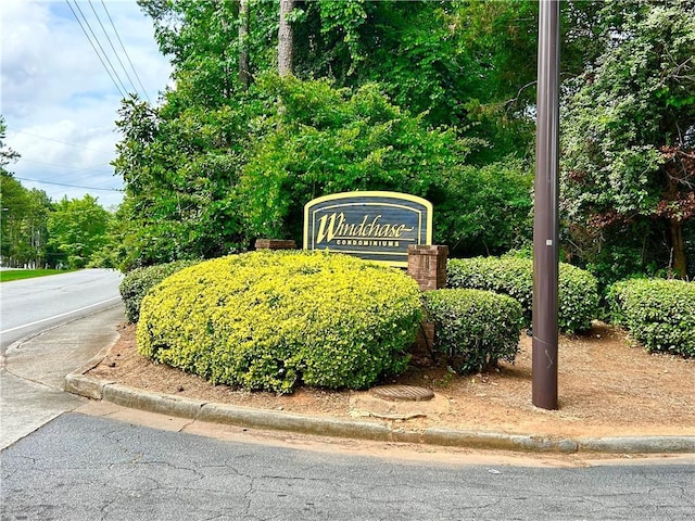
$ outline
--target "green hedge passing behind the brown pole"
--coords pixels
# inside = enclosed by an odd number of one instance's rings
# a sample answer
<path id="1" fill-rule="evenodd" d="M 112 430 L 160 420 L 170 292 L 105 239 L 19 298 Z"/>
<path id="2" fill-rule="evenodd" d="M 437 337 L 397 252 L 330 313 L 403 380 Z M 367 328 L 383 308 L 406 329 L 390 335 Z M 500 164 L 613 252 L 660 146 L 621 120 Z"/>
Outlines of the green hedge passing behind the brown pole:
<path id="1" fill-rule="evenodd" d="M 489 290 L 516 298 L 523 308 L 526 326 L 533 307 L 533 260 L 520 257 L 452 258 L 446 285 L 453 289 Z M 558 329 L 580 333 L 591 329 L 598 315 L 598 287 L 589 271 L 560 263 L 558 281 Z"/>

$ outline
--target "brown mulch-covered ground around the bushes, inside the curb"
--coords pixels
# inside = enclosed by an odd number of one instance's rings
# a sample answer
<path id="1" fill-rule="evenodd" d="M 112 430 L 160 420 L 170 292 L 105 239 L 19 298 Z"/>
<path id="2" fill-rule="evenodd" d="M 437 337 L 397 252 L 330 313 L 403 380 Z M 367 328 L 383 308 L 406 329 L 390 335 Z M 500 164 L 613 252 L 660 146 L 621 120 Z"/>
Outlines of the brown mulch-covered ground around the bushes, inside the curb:
<path id="1" fill-rule="evenodd" d="M 484 374 L 458 376 L 445 364 L 413 366 L 384 384 L 435 393 L 429 402 L 390 402 L 369 392 L 300 389 L 292 395 L 212 385 L 136 350 L 135 328 L 121 338 L 91 376 L 148 391 L 207 402 L 337 418 L 393 421 L 405 429 L 462 430 L 552 436 L 695 435 L 695 360 L 649 355 L 627 334 L 595 323 L 590 334 L 561 336 L 558 410 L 531 403 L 531 339 L 520 339 L 516 364 Z"/>

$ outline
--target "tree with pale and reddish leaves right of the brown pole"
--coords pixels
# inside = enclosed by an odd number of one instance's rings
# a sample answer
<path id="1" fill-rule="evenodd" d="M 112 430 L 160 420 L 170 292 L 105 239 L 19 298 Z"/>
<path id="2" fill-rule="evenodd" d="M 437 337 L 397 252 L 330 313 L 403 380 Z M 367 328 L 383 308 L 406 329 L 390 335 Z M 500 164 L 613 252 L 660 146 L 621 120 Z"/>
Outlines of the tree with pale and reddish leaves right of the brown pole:
<path id="1" fill-rule="evenodd" d="M 569 250 L 628 271 L 649 262 L 684 277 L 695 239 L 684 237 L 695 216 L 695 7 L 640 2 L 621 14 L 563 117 Z M 630 263 L 616 257 L 626 246 Z"/>

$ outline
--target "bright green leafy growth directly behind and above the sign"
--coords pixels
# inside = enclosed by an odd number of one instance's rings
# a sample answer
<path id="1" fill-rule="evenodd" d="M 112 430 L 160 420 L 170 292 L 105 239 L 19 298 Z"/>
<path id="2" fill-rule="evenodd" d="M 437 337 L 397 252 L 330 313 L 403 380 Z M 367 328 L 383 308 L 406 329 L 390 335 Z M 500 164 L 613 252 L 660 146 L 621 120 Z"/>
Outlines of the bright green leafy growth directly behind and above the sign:
<path id="1" fill-rule="evenodd" d="M 477 144 L 429 128 L 424 115 L 394 105 L 376 85 L 353 92 L 326 79 L 264 75 L 258 86 L 283 110 L 265 122 L 271 131 L 254 143 L 237 187 L 252 234 L 300 242 L 303 205 L 329 193 L 394 190 L 427 198 Z"/>

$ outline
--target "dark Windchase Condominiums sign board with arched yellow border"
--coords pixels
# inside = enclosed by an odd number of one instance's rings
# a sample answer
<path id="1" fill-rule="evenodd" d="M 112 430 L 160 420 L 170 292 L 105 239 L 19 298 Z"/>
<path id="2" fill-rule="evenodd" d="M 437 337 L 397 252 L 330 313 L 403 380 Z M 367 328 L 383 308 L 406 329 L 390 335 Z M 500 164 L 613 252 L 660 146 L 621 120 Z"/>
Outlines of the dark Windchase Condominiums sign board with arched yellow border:
<path id="1" fill-rule="evenodd" d="M 432 243 L 432 204 L 397 192 L 345 192 L 304 206 L 304 250 L 407 267 L 410 244 Z"/>

